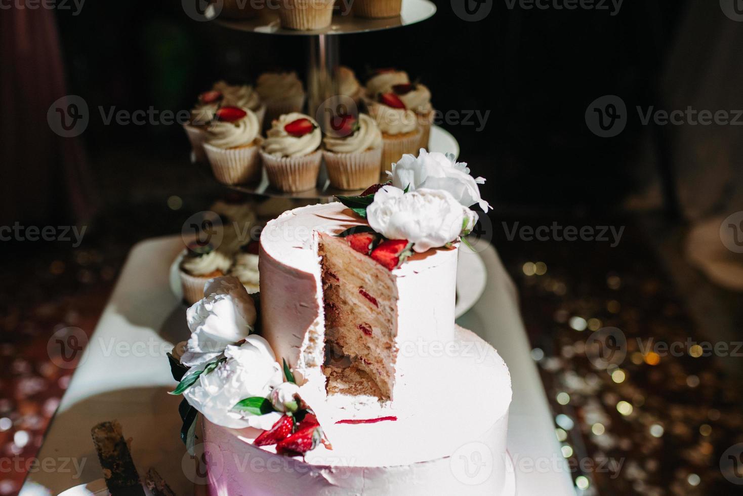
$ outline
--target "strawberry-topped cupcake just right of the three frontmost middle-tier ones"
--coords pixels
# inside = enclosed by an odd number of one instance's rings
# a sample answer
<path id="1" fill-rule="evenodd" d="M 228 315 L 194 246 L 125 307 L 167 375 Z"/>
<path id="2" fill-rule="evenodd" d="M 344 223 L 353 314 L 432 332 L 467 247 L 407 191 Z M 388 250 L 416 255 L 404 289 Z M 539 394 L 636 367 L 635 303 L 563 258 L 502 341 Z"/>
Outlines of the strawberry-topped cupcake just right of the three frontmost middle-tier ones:
<path id="1" fill-rule="evenodd" d="M 380 94 L 378 102 L 369 105 L 369 114 L 382 131 L 382 172 L 391 171 L 403 154 L 418 156 L 422 134 L 418 117 L 396 94 Z"/>

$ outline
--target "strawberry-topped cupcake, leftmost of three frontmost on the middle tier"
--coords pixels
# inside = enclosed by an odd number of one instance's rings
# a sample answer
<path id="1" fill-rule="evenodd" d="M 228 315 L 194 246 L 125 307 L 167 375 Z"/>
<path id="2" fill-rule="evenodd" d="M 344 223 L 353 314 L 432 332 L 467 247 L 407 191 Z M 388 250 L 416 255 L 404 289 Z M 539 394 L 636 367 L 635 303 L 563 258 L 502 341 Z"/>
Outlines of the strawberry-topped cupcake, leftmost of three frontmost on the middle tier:
<path id="1" fill-rule="evenodd" d="M 259 133 L 258 117 L 249 108 L 218 108 L 207 129 L 204 150 L 220 183 L 241 184 L 260 178 Z"/>

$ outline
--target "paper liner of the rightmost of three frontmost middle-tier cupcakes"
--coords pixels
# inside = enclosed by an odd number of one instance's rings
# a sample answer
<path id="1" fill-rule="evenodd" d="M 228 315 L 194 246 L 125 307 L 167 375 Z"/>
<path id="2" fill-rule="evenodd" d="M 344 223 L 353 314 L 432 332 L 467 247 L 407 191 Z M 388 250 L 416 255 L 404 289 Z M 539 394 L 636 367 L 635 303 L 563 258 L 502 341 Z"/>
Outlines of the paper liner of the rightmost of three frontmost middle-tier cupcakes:
<path id="1" fill-rule="evenodd" d="M 323 150 L 328 178 L 335 188 L 366 189 L 379 181 L 382 148 L 358 153 L 334 153 Z"/>

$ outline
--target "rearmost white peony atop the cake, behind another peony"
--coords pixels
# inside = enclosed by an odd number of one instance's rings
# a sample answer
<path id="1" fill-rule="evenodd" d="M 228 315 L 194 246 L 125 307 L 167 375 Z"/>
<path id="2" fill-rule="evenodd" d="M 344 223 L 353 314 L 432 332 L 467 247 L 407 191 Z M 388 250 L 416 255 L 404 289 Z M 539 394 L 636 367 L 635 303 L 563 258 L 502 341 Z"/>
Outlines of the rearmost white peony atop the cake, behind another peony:
<path id="1" fill-rule="evenodd" d="M 421 149 L 418 158 L 404 154 L 398 163 L 392 164 L 392 186 L 406 189 L 408 192 L 418 189 L 444 189 L 464 206 L 477 203 L 483 212 L 492 209 L 490 203 L 480 196 L 478 184 L 485 182 L 483 177 L 470 175 L 467 163 L 455 162 L 451 155 L 438 151 L 428 152 Z"/>

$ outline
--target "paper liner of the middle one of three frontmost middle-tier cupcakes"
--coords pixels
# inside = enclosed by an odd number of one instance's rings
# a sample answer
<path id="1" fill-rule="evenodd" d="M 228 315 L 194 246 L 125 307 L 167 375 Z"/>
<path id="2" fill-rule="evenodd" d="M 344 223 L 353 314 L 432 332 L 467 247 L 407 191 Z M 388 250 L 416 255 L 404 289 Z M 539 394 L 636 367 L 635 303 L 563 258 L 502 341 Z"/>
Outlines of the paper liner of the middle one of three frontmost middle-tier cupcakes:
<path id="1" fill-rule="evenodd" d="M 317 186 L 322 151 L 317 150 L 302 157 L 274 157 L 261 151 L 268 183 L 279 191 L 296 193 Z"/>

